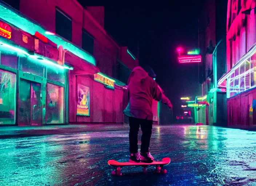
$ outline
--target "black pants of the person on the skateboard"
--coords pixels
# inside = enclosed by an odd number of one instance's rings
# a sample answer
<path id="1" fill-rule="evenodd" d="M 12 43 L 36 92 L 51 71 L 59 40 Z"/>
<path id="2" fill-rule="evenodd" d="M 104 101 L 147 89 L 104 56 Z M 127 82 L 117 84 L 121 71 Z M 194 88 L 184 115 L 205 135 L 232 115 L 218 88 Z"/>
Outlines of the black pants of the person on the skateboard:
<path id="1" fill-rule="evenodd" d="M 140 127 L 142 131 L 140 152 L 149 152 L 149 143 L 152 134 L 153 121 L 129 117 L 129 125 L 130 153 L 137 153 L 138 151 L 138 133 Z"/>

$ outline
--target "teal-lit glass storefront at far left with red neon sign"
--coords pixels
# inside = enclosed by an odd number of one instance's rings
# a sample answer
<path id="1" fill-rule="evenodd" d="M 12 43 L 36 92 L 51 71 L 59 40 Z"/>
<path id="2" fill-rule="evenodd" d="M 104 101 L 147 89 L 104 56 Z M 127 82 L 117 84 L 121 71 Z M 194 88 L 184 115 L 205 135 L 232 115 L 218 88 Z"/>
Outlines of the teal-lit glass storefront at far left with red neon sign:
<path id="1" fill-rule="evenodd" d="M 57 45 L 4 21 L 0 28 L 0 125 L 67 123 L 72 68 L 59 61 Z"/>

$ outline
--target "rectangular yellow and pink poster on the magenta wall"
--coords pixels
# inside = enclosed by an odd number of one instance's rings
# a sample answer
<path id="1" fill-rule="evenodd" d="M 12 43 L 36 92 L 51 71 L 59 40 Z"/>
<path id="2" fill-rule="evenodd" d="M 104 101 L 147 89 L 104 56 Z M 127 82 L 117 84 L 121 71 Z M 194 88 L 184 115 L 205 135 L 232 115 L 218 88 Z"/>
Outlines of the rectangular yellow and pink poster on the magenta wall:
<path id="1" fill-rule="evenodd" d="M 77 116 L 90 116 L 90 88 L 77 84 Z"/>

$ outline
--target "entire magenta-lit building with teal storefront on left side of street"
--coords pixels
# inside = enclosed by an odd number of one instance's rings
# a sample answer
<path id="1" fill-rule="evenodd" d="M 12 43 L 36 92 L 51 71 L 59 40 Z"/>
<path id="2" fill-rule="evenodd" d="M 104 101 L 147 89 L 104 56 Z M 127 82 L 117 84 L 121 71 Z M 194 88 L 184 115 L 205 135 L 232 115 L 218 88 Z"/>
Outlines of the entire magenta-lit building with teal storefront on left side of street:
<path id="1" fill-rule="evenodd" d="M 0 4 L 0 124 L 123 123 L 128 97 L 119 80 L 139 61 L 105 31 L 104 8 L 76 0 L 13 6 Z"/>

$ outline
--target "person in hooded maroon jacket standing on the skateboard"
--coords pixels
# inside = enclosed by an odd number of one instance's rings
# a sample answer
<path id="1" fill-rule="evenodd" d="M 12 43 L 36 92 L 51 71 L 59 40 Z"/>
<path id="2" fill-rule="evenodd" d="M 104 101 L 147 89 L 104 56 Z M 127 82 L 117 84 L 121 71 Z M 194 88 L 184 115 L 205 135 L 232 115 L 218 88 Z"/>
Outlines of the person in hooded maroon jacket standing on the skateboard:
<path id="1" fill-rule="evenodd" d="M 152 134 L 153 99 L 161 101 L 172 109 L 171 101 L 163 94 L 157 85 L 155 74 L 146 72 L 142 67 L 135 67 L 128 78 L 128 90 L 130 101 L 124 110 L 129 116 L 129 151 L 130 160 L 135 162 L 153 162 L 153 156 L 149 152 L 149 143 Z M 149 74 L 151 76 L 149 76 Z M 141 151 L 138 151 L 138 133 L 141 127 Z"/>

